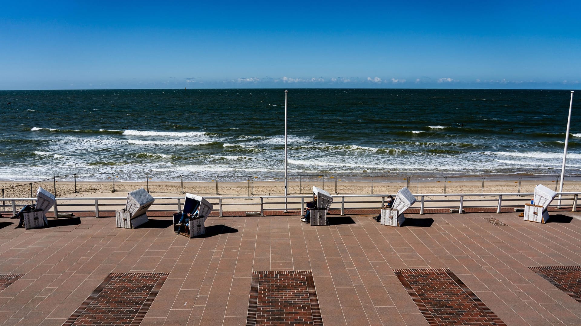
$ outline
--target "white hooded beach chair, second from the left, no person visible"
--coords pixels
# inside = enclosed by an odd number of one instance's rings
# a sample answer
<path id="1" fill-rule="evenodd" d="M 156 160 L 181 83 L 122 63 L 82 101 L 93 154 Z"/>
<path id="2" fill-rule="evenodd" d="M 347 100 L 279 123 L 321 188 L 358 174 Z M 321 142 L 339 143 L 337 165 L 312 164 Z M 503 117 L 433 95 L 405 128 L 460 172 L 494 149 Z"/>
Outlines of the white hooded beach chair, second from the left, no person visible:
<path id="1" fill-rule="evenodd" d="M 155 201 L 144 188 L 127 194 L 125 209 L 115 211 L 118 228 L 136 228 L 148 221 L 147 210 Z"/>

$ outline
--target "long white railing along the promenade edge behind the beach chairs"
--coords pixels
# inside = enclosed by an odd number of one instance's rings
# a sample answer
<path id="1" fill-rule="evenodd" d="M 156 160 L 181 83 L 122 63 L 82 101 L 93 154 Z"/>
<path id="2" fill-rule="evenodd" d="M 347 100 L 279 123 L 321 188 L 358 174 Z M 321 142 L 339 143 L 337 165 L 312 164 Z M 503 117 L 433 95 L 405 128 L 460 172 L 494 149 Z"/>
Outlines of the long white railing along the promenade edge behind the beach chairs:
<path id="1" fill-rule="evenodd" d="M 560 202 L 559 204 L 551 206 L 562 206 L 564 203 L 571 202 L 572 212 L 577 210 L 577 202 L 581 192 L 557 192 L 557 195 L 561 195 L 560 200 L 553 200 L 553 202 Z M 333 196 L 333 204 L 330 209 L 338 209 L 336 207 L 340 205 L 341 215 L 345 214 L 345 209 L 378 209 L 383 206 L 385 198 L 389 196 L 388 194 L 383 195 L 335 195 Z M 424 214 L 425 208 L 439 208 L 439 209 L 457 209 L 458 213 L 462 214 L 463 209 L 467 207 L 496 207 L 497 213 L 500 213 L 503 203 L 508 202 L 505 206 L 515 207 L 524 205 L 523 202 L 528 202 L 528 198 L 532 198 L 532 192 L 521 192 L 521 193 L 489 193 L 489 194 L 418 194 L 414 195 L 418 198 L 418 202 L 415 203 L 411 208 L 417 208 L 419 206 L 419 213 Z M 512 197 L 512 198 L 507 198 Z M 182 205 L 181 199 L 184 196 L 171 196 L 171 197 L 154 197 L 156 202 L 153 206 L 174 206 L 178 212 L 181 212 Z M 301 215 L 304 214 L 305 209 L 305 199 L 311 198 L 310 195 L 293 195 L 293 196 L 204 196 L 213 205 L 217 205 L 218 208 L 214 211 L 218 211 L 220 216 L 223 216 L 224 207 L 227 206 L 254 206 L 259 209 L 260 216 L 264 216 L 264 212 L 267 210 L 285 210 L 285 207 L 289 207 L 288 210 L 300 210 Z M 438 198 L 438 199 L 433 199 Z M 442 199 L 443 198 L 443 199 Z M 465 199 L 468 198 L 468 199 Z M 472 199 L 469 199 L 472 198 Z M 474 199 L 477 198 L 477 199 Z M 6 212 L 6 207 L 12 208 L 12 213 L 16 214 L 17 201 L 31 201 L 36 198 L 5 198 L 2 200 L 2 210 Z M 363 200 L 363 199 L 374 199 L 374 200 Z M 58 216 L 59 207 L 85 207 L 84 211 L 87 211 L 88 206 L 92 206 L 92 203 L 82 203 L 85 201 L 93 201 L 95 207 L 95 217 L 99 217 L 99 207 L 105 206 L 123 206 L 127 197 L 63 197 L 56 198 L 57 203 L 63 201 L 74 201 L 78 203 L 60 203 L 53 206 L 53 211 L 55 216 Z M 175 200 L 175 202 L 174 202 Z M 224 203 L 224 200 L 237 200 L 232 203 Z M 244 200 L 253 200 L 252 203 L 245 203 Z M 256 200 L 256 202 L 254 202 Z M 275 200 L 275 201 L 270 201 Z M 296 201 L 289 201 L 296 200 Z M 101 203 L 99 203 L 101 201 Z M 103 203 L 107 201 L 108 203 Z M 9 202 L 7 205 L 6 202 Z M 110 203 L 114 202 L 114 203 Z M 518 202 L 518 203 L 515 203 Z M 466 203 L 475 203 L 475 205 L 466 205 Z M 487 203 L 493 203 L 493 205 L 485 205 Z M 510 203 L 513 203 L 510 205 Z M 361 206 L 364 204 L 364 206 Z M 430 205 L 431 204 L 431 205 Z M 448 205 L 450 204 L 450 205 Z M 265 207 L 268 206 L 268 207 Z M 335 206 L 335 207 L 333 207 Z M 349 206 L 349 207 L 347 207 Z M 216 206 L 214 206 L 216 207 Z M 91 209 L 92 210 L 92 209 Z M 173 210 L 173 209 L 170 209 Z M 256 209 L 254 209 L 256 210 Z M 73 210 L 74 212 L 74 210 Z"/>

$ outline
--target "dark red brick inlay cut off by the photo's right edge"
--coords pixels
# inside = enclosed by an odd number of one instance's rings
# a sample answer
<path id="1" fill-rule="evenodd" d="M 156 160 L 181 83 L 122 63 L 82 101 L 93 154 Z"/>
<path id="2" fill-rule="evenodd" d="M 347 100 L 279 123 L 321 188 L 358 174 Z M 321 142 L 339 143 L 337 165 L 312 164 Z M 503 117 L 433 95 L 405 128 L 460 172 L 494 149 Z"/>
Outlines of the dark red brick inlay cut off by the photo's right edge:
<path id="1" fill-rule="evenodd" d="M 539 266 L 529 268 L 581 303 L 581 266 Z"/>

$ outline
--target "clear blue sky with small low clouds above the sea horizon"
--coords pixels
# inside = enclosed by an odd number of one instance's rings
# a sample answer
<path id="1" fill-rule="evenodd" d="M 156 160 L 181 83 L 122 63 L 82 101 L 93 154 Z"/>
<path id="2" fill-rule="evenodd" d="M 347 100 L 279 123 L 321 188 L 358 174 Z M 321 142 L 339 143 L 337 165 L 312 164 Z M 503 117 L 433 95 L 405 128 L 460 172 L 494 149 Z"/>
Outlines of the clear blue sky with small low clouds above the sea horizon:
<path id="1" fill-rule="evenodd" d="M 0 89 L 578 89 L 580 9 L 580 1 L 5 2 Z"/>

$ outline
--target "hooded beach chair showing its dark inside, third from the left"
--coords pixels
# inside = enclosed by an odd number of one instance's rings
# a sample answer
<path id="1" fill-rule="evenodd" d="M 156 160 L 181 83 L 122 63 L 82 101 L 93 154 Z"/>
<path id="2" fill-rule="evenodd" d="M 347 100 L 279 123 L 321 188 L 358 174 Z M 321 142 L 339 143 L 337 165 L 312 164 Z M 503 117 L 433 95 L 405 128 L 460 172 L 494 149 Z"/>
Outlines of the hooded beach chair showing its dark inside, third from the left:
<path id="1" fill-rule="evenodd" d="M 188 235 L 190 238 L 205 234 L 206 226 L 204 223 L 206 222 L 206 218 L 210 216 L 213 208 L 214 206 L 203 197 L 185 194 L 184 212 L 195 213 L 192 211 L 198 209 L 198 215 L 189 217 L 188 221 L 183 225 L 185 232 L 181 232 L 181 234 Z M 181 216 L 181 212 L 174 213 L 174 231 L 176 232 L 178 230 L 177 223 L 180 221 Z"/>

